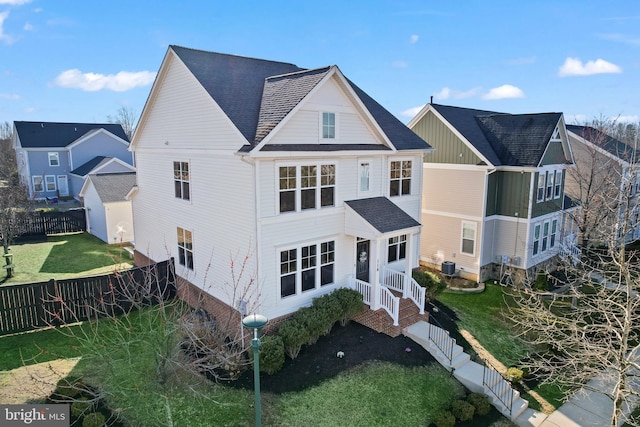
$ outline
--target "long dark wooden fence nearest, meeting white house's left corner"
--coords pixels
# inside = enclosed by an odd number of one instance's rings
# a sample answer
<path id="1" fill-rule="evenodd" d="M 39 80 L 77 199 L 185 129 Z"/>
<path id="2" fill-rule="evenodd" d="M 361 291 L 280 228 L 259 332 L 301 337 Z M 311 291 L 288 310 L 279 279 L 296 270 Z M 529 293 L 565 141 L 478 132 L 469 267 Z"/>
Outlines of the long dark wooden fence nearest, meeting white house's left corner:
<path id="1" fill-rule="evenodd" d="M 0 286 L 0 335 L 126 313 L 176 294 L 173 258 L 104 276 Z"/>

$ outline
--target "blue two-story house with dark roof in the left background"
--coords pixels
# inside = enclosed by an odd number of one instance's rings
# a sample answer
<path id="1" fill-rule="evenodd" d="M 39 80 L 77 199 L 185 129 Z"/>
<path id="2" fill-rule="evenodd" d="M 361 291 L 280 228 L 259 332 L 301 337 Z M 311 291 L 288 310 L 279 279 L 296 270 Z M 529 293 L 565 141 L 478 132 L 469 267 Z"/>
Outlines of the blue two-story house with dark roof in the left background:
<path id="1" fill-rule="evenodd" d="M 33 199 L 77 199 L 89 173 L 134 170 L 120 124 L 16 121 L 13 126 L 18 173 Z"/>

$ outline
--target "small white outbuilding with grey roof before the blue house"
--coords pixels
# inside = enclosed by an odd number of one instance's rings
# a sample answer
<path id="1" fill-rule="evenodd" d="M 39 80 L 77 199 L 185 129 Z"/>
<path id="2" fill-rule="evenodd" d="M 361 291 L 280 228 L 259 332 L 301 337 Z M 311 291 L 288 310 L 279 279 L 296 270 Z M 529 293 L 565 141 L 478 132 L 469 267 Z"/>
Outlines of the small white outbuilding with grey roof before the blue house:
<path id="1" fill-rule="evenodd" d="M 79 194 L 87 212 L 87 231 L 110 244 L 133 242 L 130 197 L 135 185 L 135 172 L 89 175 Z"/>

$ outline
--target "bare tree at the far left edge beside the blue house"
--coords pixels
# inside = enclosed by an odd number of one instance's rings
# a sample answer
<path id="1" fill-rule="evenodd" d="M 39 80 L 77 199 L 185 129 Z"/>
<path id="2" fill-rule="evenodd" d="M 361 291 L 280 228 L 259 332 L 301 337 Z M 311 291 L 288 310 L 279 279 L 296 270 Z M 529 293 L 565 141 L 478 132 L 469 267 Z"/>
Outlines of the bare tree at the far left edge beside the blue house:
<path id="1" fill-rule="evenodd" d="M 0 243 L 5 255 L 7 278 L 12 277 L 13 267 L 10 246 L 16 237 L 17 226 L 29 210 L 29 193 L 21 185 L 18 177 L 15 151 L 11 146 L 10 135 L 4 132 L 6 125 L 0 126 L 0 133 L 6 136 L 0 140 Z M 4 130 L 3 130 L 4 129 Z M 10 128 L 9 128 L 10 129 Z"/>

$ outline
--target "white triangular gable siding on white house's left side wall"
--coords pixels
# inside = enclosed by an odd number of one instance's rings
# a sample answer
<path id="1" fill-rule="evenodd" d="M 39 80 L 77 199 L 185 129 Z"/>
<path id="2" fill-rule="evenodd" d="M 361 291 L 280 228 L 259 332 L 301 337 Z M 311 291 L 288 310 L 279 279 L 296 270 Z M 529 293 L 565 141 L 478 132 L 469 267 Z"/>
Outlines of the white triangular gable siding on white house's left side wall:
<path id="1" fill-rule="evenodd" d="M 222 109 L 173 54 L 154 88 L 136 132 L 136 151 L 145 148 L 176 150 L 234 150 L 246 139 Z M 165 145 L 166 144 L 166 145 Z"/>

